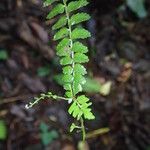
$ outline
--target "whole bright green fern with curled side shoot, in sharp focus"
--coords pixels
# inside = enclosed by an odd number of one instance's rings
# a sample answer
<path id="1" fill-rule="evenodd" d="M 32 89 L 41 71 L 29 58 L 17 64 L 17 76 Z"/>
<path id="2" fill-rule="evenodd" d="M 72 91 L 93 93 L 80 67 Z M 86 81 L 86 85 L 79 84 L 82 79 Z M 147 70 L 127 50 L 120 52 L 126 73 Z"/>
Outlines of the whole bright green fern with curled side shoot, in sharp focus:
<path id="1" fill-rule="evenodd" d="M 90 106 L 92 103 L 85 95 L 79 95 L 82 92 L 82 85 L 86 82 L 84 75 L 87 73 L 84 63 L 89 61 L 86 53 L 88 48 L 81 43 L 82 39 L 91 36 L 90 32 L 79 26 L 78 24 L 90 19 L 87 13 L 77 10 L 88 4 L 87 0 L 46 0 L 44 6 L 53 5 L 53 9 L 47 15 L 47 19 L 52 19 L 57 15 L 60 18 L 52 26 L 55 31 L 54 40 L 58 41 L 56 46 L 56 54 L 60 57 L 60 64 L 62 65 L 63 81 L 65 96 L 60 97 L 53 95 L 51 92 L 41 94 L 36 97 L 34 102 L 26 105 L 30 108 L 40 100 L 45 98 L 63 99 L 69 103 L 69 114 L 80 121 L 81 125 L 77 126 L 72 123 L 70 132 L 74 129 L 81 129 L 83 140 L 85 140 L 85 126 L 84 120 L 92 120 L 95 118 L 91 112 Z"/>

